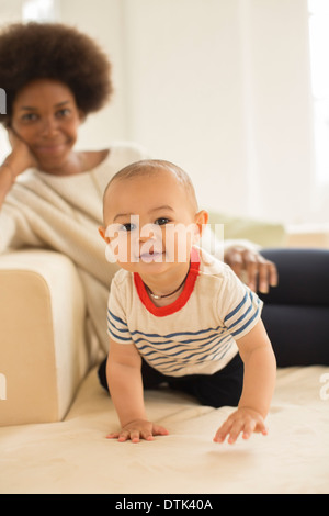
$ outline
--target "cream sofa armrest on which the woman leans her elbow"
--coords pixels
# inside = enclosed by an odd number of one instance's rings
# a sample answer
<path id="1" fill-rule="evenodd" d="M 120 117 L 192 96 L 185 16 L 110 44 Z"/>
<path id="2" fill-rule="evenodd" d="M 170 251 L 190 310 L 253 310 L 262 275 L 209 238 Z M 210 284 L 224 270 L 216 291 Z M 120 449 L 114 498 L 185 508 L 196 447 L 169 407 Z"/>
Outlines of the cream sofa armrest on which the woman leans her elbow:
<path id="1" fill-rule="evenodd" d="M 88 369 L 73 263 L 48 250 L 0 256 L 0 426 L 63 419 Z"/>

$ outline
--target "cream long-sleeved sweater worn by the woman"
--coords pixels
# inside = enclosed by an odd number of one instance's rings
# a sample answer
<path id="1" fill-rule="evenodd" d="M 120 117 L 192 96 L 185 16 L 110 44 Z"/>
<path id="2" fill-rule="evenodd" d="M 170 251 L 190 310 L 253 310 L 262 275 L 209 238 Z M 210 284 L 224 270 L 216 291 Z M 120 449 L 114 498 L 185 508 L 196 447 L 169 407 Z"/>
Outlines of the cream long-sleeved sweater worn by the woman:
<path id="1" fill-rule="evenodd" d="M 7 195 L 0 215 L 0 251 L 37 247 L 59 251 L 77 266 L 87 299 L 90 354 L 106 352 L 106 304 L 117 266 L 105 259 L 98 227 L 103 191 L 126 165 L 148 157 L 132 144 L 111 146 L 107 158 L 93 170 L 58 177 L 30 169 Z M 97 358 L 97 357 L 95 357 Z"/>

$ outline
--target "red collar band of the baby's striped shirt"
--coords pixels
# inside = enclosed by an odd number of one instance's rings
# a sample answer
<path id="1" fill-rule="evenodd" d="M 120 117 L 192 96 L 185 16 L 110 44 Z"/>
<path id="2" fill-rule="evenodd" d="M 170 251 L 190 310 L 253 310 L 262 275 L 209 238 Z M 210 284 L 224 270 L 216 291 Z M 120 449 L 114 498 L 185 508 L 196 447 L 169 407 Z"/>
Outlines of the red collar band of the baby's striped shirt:
<path id="1" fill-rule="evenodd" d="M 138 272 L 134 272 L 134 282 L 141 303 L 152 315 L 157 315 L 158 317 L 164 317 L 166 315 L 171 315 L 175 312 L 179 312 L 188 303 L 193 292 L 196 278 L 198 276 L 198 270 L 200 254 L 198 250 L 193 247 L 191 251 L 190 270 L 185 280 L 183 291 L 180 296 L 175 301 L 173 301 L 173 303 L 170 303 L 167 306 L 156 306 L 152 303 L 140 276 L 138 274 Z"/>

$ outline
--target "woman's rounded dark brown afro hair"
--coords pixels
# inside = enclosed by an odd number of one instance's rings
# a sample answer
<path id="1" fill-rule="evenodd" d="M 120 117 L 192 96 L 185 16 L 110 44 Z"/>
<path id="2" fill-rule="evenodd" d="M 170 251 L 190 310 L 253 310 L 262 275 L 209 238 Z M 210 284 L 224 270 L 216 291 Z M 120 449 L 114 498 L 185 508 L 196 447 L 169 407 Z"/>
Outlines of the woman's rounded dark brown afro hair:
<path id="1" fill-rule="evenodd" d="M 111 63 L 97 43 L 60 23 L 14 23 L 0 33 L 0 88 L 5 91 L 7 124 L 18 92 L 36 79 L 54 79 L 73 93 L 88 115 L 99 111 L 112 93 Z"/>

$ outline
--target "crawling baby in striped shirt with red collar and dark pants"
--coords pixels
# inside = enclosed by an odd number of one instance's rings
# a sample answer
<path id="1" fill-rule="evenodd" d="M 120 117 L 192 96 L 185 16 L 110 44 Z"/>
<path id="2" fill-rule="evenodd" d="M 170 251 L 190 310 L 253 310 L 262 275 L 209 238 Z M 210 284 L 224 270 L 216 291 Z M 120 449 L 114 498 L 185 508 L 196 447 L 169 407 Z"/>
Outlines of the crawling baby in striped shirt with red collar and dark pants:
<path id="1" fill-rule="evenodd" d="M 121 423 L 107 437 L 168 435 L 148 420 L 144 403 L 144 389 L 163 382 L 204 405 L 237 406 L 214 441 L 265 435 L 276 364 L 262 303 L 196 246 L 208 214 L 198 210 L 189 176 L 162 160 L 129 165 L 107 184 L 103 210 L 100 234 L 121 267 L 109 298 L 109 356 L 99 370 Z"/>

